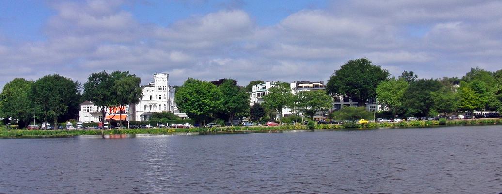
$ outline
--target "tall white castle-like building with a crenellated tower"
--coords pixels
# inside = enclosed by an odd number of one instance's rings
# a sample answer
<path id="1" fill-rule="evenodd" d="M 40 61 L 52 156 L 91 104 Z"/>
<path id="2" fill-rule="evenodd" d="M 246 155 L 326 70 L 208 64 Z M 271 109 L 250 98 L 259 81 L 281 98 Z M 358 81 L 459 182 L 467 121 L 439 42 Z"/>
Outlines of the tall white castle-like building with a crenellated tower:
<path id="1" fill-rule="evenodd" d="M 169 74 L 156 73 L 154 80 L 143 86 L 143 98 L 134 106 L 132 119 L 134 121 L 148 121 L 154 112 L 169 111 L 181 119 L 188 117 L 180 113 L 174 101 L 176 89 L 169 86 Z"/>

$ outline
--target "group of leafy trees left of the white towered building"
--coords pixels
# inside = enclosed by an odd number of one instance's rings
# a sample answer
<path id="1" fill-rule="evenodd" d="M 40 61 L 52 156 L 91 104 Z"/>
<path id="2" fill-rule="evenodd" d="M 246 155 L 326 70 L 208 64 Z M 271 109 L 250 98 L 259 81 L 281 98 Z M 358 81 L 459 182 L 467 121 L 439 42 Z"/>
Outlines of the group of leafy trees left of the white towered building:
<path id="1" fill-rule="evenodd" d="M 80 82 L 59 74 L 45 75 L 36 81 L 14 78 L 0 93 L 0 118 L 4 118 L 4 124 L 10 122 L 16 127 L 32 121 L 53 122 L 57 129 L 58 121 L 78 117 L 84 101 L 92 101 L 105 118 L 107 113 L 111 116 L 112 107 L 139 102 L 143 96 L 140 83 L 141 78 L 129 71 L 92 73 L 83 87 Z"/>

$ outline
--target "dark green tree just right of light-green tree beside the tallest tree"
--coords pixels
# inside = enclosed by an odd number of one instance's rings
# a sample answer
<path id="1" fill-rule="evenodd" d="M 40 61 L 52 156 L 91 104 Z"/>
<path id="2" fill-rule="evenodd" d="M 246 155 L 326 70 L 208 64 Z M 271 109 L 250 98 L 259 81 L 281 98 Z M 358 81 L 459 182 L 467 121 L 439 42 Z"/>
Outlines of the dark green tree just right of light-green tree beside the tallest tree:
<path id="1" fill-rule="evenodd" d="M 404 93 L 403 106 L 407 115 L 428 116 L 434 105 L 431 92 L 441 88 L 441 83 L 434 79 L 418 79 L 412 82 Z"/>

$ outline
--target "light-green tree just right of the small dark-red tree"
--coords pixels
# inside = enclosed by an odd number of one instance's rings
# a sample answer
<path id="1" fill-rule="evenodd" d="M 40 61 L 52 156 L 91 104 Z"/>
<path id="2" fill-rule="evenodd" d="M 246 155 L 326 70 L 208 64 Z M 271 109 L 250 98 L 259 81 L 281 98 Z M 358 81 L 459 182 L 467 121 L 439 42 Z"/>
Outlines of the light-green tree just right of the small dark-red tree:
<path id="1" fill-rule="evenodd" d="M 286 87 L 281 82 L 276 82 L 275 86 L 269 88 L 269 93 L 263 96 L 263 106 L 279 113 L 279 119 L 282 118 L 283 108 L 292 105 L 293 93 L 289 85 Z"/>

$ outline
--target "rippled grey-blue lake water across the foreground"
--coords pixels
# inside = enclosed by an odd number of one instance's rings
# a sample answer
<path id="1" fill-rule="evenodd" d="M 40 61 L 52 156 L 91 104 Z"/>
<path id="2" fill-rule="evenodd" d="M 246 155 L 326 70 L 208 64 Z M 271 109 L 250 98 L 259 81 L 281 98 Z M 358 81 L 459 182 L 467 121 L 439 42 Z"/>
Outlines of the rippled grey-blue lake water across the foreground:
<path id="1" fill-rule="evenodd" d="M 502 126 L 0 139 L 0 193 L 498 193 Z"/>

